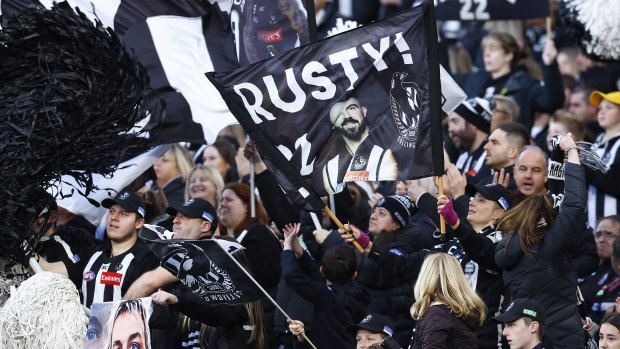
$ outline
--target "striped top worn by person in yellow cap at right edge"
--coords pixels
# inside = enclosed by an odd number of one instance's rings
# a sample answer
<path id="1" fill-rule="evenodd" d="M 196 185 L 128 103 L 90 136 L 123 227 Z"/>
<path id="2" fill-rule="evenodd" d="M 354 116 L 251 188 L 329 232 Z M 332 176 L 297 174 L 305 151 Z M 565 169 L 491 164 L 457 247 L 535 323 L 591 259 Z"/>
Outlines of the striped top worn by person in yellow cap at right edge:
<path id="1" fill-rule="evenodd" d="M 595 228 L 596 220 L 601 217 L 620 214 L 618 199 L 620 198 L 620 133 L 603 143 L 599 135 L 592 145 L 607 167 L 607 173 L 592 171 L 586 167 L 586 183 L 588 184 L 588 224 Z"/>

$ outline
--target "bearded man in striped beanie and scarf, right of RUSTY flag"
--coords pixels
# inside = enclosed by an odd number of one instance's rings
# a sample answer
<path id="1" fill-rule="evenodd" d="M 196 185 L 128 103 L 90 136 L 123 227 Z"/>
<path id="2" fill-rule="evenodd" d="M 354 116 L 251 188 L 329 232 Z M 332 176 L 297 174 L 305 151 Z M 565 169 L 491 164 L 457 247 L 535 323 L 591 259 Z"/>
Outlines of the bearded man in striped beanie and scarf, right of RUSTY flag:
<path id="1" fill-rule="evenodd" d="M 491 128 L 495 101 L 471 98 L 461 103 L 448 117 L 448 134 L 461 150 L 456 167 L 467 174 L 467 182 L 485 184 L 491 181 L 491 169 L 484 165 L 484 145 Z"/>

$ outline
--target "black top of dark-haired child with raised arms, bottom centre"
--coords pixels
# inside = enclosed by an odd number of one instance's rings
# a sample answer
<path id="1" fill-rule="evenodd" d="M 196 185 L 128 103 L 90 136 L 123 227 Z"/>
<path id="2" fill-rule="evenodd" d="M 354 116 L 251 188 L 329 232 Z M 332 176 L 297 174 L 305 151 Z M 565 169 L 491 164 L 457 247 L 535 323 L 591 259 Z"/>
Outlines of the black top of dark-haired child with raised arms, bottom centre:
<path id="1" fill-rule="evenodd" d="M 314 304 L 308 338 L 317 348 L 352 348 L 355 336 L 346 327 L 367 314 L 368 294 L 355 282 L 348 286 L 326 285 L 318 266 L 307 253 L 297 259 L 292 251 L 282 252 L 282 277 L 287 285 Z"/>

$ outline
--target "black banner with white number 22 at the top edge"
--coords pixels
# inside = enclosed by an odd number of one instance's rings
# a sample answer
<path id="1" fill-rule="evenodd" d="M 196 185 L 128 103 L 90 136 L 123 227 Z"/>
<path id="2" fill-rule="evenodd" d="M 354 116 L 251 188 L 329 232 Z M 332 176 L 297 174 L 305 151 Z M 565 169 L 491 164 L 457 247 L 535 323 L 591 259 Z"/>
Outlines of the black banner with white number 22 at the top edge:
<path id="1" fill-rule="evenodd" d="M 549 1 L 544 0 L 435 0 L 441 21 L 488 21 L 545 18 Z"/>

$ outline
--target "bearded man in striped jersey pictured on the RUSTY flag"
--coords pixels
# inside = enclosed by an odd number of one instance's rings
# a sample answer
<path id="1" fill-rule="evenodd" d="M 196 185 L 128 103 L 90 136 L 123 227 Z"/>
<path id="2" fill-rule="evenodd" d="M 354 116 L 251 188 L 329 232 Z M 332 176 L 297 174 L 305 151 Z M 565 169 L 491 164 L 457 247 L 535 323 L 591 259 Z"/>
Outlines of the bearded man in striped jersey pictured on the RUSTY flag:
<path id="1" fill-rule="evenodd" d="M 331 158 L 323 167 L 325 190 L 334 194 L 343 188 L 340 183 L 351 181 L 394 180 L 398 165 L 390 149 L 377 145 L 376 141 L 364 142 L 370 126 L 366 107 L 355 98 L 334 104 L 329 112 L 332 129 L 340 134 L 337 149 L 345 149 Z"/>

